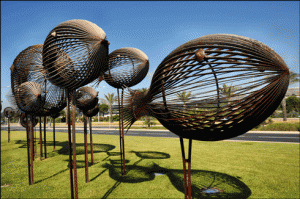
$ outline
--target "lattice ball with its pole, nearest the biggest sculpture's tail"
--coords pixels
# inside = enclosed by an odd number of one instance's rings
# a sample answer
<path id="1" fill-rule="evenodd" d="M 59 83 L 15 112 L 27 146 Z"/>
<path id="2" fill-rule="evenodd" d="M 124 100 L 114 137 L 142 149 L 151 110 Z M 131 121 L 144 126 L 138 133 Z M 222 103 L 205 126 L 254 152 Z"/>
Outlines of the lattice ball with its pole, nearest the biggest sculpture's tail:
<path id="1" fill-rule="evenodd" d="M 109 54 L 109 70 L 100 76 L 98 81 L 104 79 L 110 86 L 118 90 L 119 105 L 119 134 L 120 134 L 120 156 L 121 173 L 125 171 L 125 146 L 123 126 L 123 89 L 140 83 L 149 70 L 149 59 L 147 55 L 137 48 L 120 48 Z M 119 89 L 122 89 L 121 99 Z"/>

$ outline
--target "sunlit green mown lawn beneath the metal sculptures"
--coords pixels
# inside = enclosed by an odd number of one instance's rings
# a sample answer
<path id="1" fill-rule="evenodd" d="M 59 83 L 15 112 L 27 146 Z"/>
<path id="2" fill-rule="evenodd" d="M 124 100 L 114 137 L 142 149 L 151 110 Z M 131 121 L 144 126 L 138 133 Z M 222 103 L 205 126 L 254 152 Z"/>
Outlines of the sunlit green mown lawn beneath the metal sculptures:
<path id="1" fill-rule="evenodd" d="M 38 133 L 37 133 L 38 134 Z M 47 133 L 48 158 L 34 161 L 28 184 L 26 133 L 1 131 L 1 198 L 70 198 L 66 133 Z M 178 138 L 125 137 L 128 174 L 120 174 L 119 137 L 93 135 L 94 159 L 85 182 L 83 134 L 76 135 L 79 198 L 184 198 Z M 187 147 L 187 140 L 185 140 Z M 39 147 L 37 147 L 39 149 Z M 90 160 L 90 155 L 89 155 Z M 153 172 L 166 175 L 155 176 Z M 299 144 L 193 141 L 192 195 L 215 187 L 223 198 L 299 198 Z"/>

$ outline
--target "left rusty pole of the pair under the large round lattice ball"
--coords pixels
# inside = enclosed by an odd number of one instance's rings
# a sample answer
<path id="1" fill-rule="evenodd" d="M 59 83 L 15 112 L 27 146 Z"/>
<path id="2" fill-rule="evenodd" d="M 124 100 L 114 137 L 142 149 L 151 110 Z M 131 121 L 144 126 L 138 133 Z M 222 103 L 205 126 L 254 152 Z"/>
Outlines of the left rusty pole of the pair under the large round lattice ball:
<path id="1" fill-rule="evenodd" d="M 74 188 L 73 188 L 73 161 L 72 161 L 72 143 L 71 143 L 71 122 L 70 122 L 70 96 L 67 90 L 67 124 L 68 124 L 68 147 L 69 147 L 69 168 L 70 168 L 70 185 L 71 185 L 71 198 L 74 199 Z"/>

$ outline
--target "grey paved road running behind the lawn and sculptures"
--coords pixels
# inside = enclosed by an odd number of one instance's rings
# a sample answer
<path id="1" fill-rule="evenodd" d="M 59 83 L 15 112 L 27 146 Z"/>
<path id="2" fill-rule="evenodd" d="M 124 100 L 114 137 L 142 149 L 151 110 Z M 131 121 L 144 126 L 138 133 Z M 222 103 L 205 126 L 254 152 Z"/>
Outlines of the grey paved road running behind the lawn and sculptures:
<path id="1" fill-rule="evenodd" d="M 39 128 L 36 128 L 38 130 Z M 6 126 L 1 126 L 1 130 L 7 130 Z M 12 126 L 11 131 L 24 131 L 23 127 Z M 47 128 L 52 132 L 52 128 Z M 57 127 L 56 132 L 67 132 L 66 127 Z M 76 127 L 76 133 L 83 133 L 83 127 Z M 93 134 L 119 135 L 115 128 L 93 127 Z M 145 136 L 145 137 L 168 137 L 177 138 L 178 136 L 168 130 L 139 130 L 131 129 L 126 136 Z M 261 141 L 261 142 L 284 142 L 300 143 L 299 132 L 295 131 L 249 131 L 243 135 L 228 139 L 227 141 Z"/>

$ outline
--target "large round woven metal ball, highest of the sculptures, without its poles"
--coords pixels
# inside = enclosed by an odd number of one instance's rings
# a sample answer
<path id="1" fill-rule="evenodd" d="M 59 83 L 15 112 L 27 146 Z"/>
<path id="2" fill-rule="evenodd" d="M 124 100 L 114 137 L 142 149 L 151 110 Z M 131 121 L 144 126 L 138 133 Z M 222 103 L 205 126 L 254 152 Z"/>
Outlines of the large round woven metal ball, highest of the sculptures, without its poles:
<path id="1" fill-rule="evenodd" d="M 105 32 L 86 20 L 69 20 L 50 31 L 44 42 L 43 65 L 55 85 L 74 90 L 108 69 Z"/>

